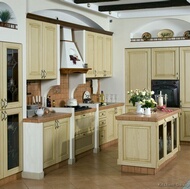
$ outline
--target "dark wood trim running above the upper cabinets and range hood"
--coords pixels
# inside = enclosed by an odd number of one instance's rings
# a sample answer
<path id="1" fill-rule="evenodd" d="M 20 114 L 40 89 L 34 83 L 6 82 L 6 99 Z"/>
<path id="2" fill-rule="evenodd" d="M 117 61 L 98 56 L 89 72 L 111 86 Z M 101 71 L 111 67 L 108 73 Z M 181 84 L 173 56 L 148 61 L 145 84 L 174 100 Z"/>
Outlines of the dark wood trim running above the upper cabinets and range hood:
<path id="1" fill-rule="evenodd" d="M 52 18 L 48 18 L 48 17 L 44 17 L 44 16 L 39 16 L 39 15 L 32 14 L 32 13 L 27 13 L 26 18 L 30 18 L 33 20 L 39 20 L 39 21 L 43 21 L 43 22 L 48 22 L 48 23 L 53 23 L 53 24 L 59 24 L 62 27 L 64 27 L 64 26 L 69 27 L 73 30 L 86 30 L 86 31 L 91 31 L 91 32 L 96 32 L 96 33 L 101 33 L 101 34 L 106 34 L 106 35 L 113 35 L 113 32 L 110 32 L 110 31 L 99 30 L 99 29 L 88 27 L 88 26 L 82 26 L 79 24 L 73 24 L 70 22 L 65 22 L 65 21 L 56 20 L 56 19 L 52 19 Z"/>

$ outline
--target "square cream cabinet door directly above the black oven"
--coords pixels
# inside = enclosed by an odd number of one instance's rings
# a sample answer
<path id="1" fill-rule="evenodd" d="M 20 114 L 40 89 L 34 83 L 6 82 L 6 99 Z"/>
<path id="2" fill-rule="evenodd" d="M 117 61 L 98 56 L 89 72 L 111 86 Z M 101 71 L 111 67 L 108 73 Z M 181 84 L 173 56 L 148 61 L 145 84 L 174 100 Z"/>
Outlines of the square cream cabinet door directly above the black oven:
<path id="1" fill-rule="evenodd" d="M 152 79 L 179 79 L 179 48 L 152 49 Z"/>

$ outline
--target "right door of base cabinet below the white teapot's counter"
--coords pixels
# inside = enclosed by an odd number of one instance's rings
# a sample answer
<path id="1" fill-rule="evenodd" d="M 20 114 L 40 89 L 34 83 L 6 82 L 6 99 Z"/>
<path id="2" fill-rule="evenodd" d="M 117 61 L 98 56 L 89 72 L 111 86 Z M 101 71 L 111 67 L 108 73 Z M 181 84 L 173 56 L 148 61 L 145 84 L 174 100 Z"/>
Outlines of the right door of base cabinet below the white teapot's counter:
<path id="1" fill-rule="evenodd" d="M 69 119 L 57 120 L 56 163 L 69 158 Z"/>

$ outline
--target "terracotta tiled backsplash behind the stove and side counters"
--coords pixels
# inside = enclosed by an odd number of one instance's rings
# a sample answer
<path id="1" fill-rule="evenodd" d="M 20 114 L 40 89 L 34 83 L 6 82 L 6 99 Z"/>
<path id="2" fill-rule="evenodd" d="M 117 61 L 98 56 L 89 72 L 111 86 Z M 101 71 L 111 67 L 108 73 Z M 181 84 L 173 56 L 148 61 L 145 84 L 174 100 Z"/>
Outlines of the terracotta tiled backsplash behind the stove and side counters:
<path id="1" fill-rule="evenodd" d="M 48 92 L 48 96 L 51 97 L 51 100 L 55 100 L 56 107 L 63 107 L 66 105 L 67 100 L 69 99 L 69 80 L 68 75 L 61 75 L 61 84 L 54 86 Z M 98 81 L 99 82 L 99 81 Z M 83 94 L 85 91 L 89 91 L 91 94 L 91 99 L 93 102 L 99 101 L 98 94 L 92 94 L 91 80 L 87 80 L 86 84 L 80 84 L 75 92 L 74 98 L 77 99 L 78 103 L 83 102 Z M 99 90 L 98 90 L 99 91 Z M 31 94 L 30 96 L 40 96 L 41 95 L 41 82 L 37 81 L 28 81 L 27 82 L 27 93 Z"/>

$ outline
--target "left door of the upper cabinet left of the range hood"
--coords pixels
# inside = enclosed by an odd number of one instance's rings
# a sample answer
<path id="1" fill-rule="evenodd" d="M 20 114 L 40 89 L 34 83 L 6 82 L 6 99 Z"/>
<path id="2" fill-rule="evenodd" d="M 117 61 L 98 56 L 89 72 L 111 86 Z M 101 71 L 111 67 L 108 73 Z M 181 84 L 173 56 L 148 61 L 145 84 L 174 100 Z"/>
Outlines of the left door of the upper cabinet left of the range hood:
<path id="1" fill-rule="evenodd" d="M 42 22 L 27 19 L 27 79 L 41 79 L 42 77 Z"/>

